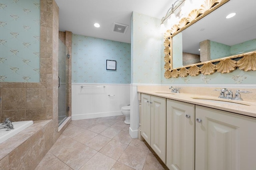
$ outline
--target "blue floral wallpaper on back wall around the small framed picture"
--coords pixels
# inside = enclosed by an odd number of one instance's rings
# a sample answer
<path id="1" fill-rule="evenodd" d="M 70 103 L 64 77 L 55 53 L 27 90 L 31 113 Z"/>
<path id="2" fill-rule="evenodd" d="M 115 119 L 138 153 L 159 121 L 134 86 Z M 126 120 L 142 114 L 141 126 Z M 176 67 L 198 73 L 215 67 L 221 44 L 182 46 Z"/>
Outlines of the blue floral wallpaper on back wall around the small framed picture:
<path id="1" fill-rule="evenodd" d="M 116 70 L 106 70 L 106 60 L 116 61 Z M 73 34 L 72 82 L 130 84 L 130 43 Z"/>

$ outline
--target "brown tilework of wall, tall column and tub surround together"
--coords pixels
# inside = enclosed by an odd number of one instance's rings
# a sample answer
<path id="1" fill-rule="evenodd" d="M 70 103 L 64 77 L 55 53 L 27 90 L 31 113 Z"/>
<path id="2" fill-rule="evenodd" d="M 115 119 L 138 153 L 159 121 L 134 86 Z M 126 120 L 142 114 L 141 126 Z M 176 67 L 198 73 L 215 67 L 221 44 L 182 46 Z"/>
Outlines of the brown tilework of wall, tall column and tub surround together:
<path id="1" fill-rule="evenodd" d="M 0 120 L 35 121 L 18 140 L 0 145 L 0 169 L 34 169 L 68 125 L 58 132 L 58 12 L 54 0 L 40 0 L 40 83 L 0 82 Z M 65 36 L 71 51 L 72 33 Z"/>

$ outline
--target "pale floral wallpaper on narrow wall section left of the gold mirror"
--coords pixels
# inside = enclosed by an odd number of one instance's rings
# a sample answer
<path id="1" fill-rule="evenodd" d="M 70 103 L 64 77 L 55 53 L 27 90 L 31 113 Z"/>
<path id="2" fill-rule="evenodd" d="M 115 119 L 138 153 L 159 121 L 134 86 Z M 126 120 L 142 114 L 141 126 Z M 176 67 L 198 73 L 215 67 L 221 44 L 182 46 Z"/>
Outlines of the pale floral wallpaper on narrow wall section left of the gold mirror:
<path id="1" fill-rule="evenodd" d="M 160 20 L 144 14 L 132 14 L 132 83 L 160 84 L 161 56 L 164 38 L 160 33 Z"/>

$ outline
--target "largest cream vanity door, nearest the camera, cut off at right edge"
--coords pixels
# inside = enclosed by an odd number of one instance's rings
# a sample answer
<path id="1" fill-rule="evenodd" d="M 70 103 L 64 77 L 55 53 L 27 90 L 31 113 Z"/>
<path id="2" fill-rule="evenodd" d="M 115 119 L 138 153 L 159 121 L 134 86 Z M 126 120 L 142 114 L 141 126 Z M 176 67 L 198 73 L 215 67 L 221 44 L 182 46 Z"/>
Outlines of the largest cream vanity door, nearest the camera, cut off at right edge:
<path id="1" fill-rule="evenodd" d="M 196 170 L 255 170 L 256 118 L 196 106 Z"/>

